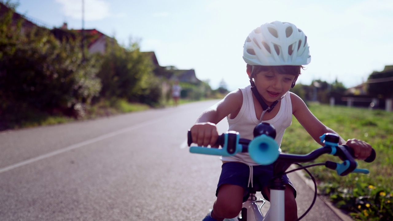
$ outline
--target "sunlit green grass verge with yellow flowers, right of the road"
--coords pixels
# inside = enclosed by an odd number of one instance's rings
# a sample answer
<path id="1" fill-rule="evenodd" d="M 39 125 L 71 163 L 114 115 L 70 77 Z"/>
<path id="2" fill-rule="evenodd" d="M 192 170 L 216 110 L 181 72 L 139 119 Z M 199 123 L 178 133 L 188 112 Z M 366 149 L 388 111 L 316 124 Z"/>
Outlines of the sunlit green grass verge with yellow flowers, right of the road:
<path id="1" fill-rule="evenodd" d="M 368 175 L 352 173 L 340 177 L 323 166 L 311 168 L 321 192 L 330 195 L 338 207 L 354 212 L 357 220 L 389 220 L 386 218 L 393 217 L 393 112 L 317 104 L 309 104 L 309 109 L 344 139 L 364 140 L 376 151 L 374 162 L 358 161 L 358 168 L 369 169 Z M 306 154 L 318 147 L 293 118 L 281 144 L 283 151 Z M 326 155 L 316 162 L 338 162 L 337 159 Z"/>

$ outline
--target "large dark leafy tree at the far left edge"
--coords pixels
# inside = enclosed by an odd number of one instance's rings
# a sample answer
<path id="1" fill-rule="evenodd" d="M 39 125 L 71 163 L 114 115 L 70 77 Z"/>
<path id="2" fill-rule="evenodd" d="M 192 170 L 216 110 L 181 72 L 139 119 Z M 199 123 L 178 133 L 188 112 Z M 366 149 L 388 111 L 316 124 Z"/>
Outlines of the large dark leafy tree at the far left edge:
<path id="1" fill-rule="evenodd" d="M 0 19 L 0 112 L 36 109 L 83 116 L 98 95 L 100 79 L 92 57 L 82 62 L 79 39 L 59 42 L 48 29 L 22 33 L 12 8 Z M 0 114 L 1 115 L 1 114 Z"/>

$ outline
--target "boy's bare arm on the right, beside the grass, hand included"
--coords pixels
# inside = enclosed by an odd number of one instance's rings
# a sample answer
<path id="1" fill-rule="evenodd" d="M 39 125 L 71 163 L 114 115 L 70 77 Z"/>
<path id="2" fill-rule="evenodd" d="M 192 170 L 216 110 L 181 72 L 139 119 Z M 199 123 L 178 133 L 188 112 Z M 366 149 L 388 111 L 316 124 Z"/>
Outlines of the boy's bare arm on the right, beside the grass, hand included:
<path id="1" fill-rule="evenodd" d="M 290 93 L 292 101 L 292 113 L 304 129 L 314 138 L 316 142 L 320 142 L 320 136 L 325 133 L 336 133 L 329 127 L 325 126 L 318 118 L 311 113 L 304 101 L 296 94 Z M 337 134 L 337 133 L 336 133 Z M 350 139 L 345 141 L 341 136 L 339 140 L 340 145 L 348 145 L 354 150 L 355 157 L 364 160 L 371 154 L 371 145 L 362 140 Z"/>

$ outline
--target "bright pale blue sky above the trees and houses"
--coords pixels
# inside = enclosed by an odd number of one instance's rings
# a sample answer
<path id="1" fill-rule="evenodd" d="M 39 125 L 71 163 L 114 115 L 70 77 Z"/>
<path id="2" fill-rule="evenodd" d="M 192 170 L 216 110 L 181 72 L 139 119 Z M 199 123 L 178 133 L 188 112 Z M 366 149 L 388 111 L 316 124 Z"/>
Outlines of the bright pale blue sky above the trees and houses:
<path id="1" fill-rule="evenodd" d="M 49 28 L 81 29 L 82 0 L 11 0 L 17 12 Z M 290 22 L 307 35 L 311 63 L 298 82 L 336 79 L 346 87 L 393 65 L 392 0 L 84 0 L 84 28 L 127 47 L 138 42 L 160 66 L 195 69 L 228 90 L 249 84 L 243 44 L 258 26 Z"/>

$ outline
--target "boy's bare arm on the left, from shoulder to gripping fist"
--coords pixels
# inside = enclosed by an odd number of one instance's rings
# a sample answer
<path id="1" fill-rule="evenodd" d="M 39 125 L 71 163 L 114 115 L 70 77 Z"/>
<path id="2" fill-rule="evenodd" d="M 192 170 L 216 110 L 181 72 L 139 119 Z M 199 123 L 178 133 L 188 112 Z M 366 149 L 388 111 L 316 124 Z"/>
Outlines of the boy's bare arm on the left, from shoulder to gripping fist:
<path id="1" fill-rule="evenodd" d="M 200 146 L 214 145 L 218 138 L 216 124 L 226 116 L 238 112 L 242 103 L 241 90 L 235 90 L 215 105 L 204 110 L 190 129 L 193 142 Z"/>

